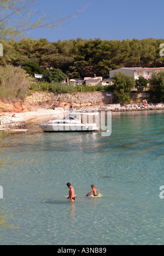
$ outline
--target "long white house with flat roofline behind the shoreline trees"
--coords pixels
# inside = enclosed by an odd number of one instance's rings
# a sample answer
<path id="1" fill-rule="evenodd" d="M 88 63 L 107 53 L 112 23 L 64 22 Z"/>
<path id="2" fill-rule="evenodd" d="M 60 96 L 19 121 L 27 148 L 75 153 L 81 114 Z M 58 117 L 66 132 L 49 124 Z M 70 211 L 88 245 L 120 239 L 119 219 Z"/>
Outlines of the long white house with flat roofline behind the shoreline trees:
<path id="1" fill-rule="evenodd" d="M 142 68 L 142 67 L 134 67 L 134 68 L 119 68 L 112 71 L 109 71 L 110 78 L 113 77 L 114 73 L 124 73 L 126 75 L 131 75 L 134 79 L 137 79 L 139 75 L 142 75 L 144 78 L 149 79 L 151 74 L 154 71 L 164 71 L 164 67 L 162 68 Z"/>

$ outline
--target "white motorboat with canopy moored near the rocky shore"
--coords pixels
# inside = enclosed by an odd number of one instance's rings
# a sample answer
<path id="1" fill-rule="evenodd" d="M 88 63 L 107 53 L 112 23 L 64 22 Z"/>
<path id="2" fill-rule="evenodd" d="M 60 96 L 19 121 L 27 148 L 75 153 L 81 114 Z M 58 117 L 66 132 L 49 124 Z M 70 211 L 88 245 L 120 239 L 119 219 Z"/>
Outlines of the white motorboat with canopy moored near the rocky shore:
<path id="1" fill-rule="evenodd" d="M 50 121 L 40 120 L 39 127 L 44 132 L 62 132 L 62 131 L 96 131 L 98 112 L 95 113 L 68 113 L 65 118 L 51 119 Z"/>

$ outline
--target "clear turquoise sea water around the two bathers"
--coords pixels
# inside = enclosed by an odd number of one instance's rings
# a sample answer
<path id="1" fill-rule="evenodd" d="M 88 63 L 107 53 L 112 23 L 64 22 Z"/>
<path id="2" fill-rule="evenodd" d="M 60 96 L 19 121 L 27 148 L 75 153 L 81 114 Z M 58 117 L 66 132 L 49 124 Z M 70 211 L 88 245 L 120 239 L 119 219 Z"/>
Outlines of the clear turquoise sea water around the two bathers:
<path id="1" fill-rule="evenodd" d="M 112 135 L 33 132 L 0 149 L 1 245 L 163 245 L 164 112 L 113 113 Z M 78 195 L 67 200 L 67 182 Z M 103 194 L 86 197 L 91 184 Z"/>

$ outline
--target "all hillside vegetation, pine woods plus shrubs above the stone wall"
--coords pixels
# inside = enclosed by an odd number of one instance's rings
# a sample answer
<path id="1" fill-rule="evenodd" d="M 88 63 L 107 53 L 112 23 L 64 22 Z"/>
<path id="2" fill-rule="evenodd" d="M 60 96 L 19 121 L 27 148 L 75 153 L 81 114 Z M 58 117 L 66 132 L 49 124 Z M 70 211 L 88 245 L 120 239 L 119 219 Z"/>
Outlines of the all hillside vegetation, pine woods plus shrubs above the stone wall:
<path id="1" fill-rule="evenodd" d="M 115 75 L 112 86 L 74 86 L 62 84 L 62 81 L 67 77 L 80 80 L 94 74 L 107 78 L 110 70 L 120 67 L 164 67 L 164 58 L 160 56 L 164 39 L 109 41 L 78 38 L 48 42 L 42 38 L 1 43 L 4 47 L 4 57 L 0 59 L 1 101 L 23 100 L 27 89 L 55 93 L 112 90 L 118 102 L 128 103 L 134 86 L 143 91 L 148 81 L 140 78 L 135 85 L 134 78 L 121 74 Z M 32 81 L 34 73 L 44 74 L 43 81 Z M 163 101 L 163 74 L 157 78 L 156 75 L 154 80 L 149 79 L 150 92 L 154 94 L 154 101 Z"/>

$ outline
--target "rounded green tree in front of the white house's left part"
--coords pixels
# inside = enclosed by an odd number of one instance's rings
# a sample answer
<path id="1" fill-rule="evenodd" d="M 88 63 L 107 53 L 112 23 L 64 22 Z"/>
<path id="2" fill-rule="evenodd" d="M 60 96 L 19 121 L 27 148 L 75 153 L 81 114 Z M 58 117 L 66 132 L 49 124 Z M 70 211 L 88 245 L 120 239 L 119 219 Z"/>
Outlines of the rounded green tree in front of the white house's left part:
<path id="1" fill-rule="evenodd" d="M 131 90 L 134 89 L 135 81 L 133 77 L 130 75 L 126 75 L 124 73 L 115 73 L 113 77 L 113 87 L 114 87 L 114 95 L 115 99 L 118 100 L 121 104 L 130 103 Z"/>

